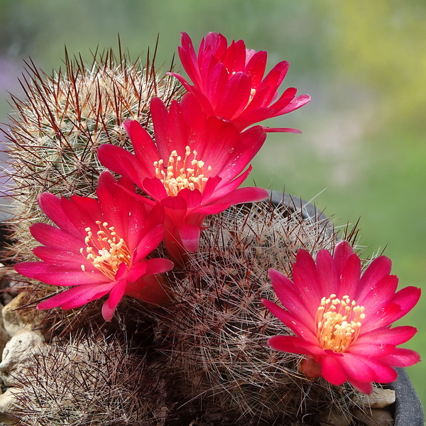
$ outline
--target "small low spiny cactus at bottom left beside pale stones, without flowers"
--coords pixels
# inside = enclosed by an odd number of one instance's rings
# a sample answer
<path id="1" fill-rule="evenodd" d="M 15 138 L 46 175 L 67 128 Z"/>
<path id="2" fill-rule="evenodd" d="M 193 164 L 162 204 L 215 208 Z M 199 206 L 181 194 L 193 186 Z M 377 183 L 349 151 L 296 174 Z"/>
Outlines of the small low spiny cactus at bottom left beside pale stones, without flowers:
<path id="1" fill-rule="evenodd" d="M 18 424 L 163 425 L 165 381 L 132 343 L 97 330 L 35 356 L 32 368 L 17 377 Z"/>

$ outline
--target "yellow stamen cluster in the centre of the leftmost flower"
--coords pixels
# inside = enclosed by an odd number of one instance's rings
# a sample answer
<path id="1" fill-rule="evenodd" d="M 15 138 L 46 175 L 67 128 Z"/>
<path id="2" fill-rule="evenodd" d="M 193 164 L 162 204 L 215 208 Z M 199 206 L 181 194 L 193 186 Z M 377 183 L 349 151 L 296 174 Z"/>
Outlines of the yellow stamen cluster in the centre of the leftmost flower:
<path id="1" fill-rule="evenodd" d="M 131 252 L 124 239 L 116 234 L 114 226 L 108 226 L 107 222 L 96 221 L 99 230 L 96 234 L 90 227 L 84 229 L 87 236 L 84 239 L 86 248 L 80 249 L 80 253 L 92 263 L 110 280 L 115 280 L 116 271 L 121 263 L 130 266 Z M 84 265 L 81 266 L 85 271 Z"/>

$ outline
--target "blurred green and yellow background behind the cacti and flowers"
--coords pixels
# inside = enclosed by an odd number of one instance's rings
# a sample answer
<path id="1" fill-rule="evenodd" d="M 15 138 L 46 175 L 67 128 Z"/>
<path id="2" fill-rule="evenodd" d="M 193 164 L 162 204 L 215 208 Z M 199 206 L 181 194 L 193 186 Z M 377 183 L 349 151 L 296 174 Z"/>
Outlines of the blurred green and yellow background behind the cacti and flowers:
<path id="1" fill-rule="evenodd" d="M 306 107 L 271 121 L 275 133 L 253 161 L 249 184 L 314 200 L 337 225 L 360 219 L 366 255 L 385 247 L 402 286 L 426 278 L 426 4 L 423 0 L 0 0 L 0 121 L 6 91 L 28 55 L 50 73 L 64 45 L 128 47 L 136 58 L 160 35 L 156 63 L 170 64 L 186 31 L 209 31 L 268 50 L 268 65 L 290 61 L 283 87 L 308 93 Z M 401 324 L 425 357 L 426 295 Z M 426 364 L 408 368 L 426 404 Z"/>

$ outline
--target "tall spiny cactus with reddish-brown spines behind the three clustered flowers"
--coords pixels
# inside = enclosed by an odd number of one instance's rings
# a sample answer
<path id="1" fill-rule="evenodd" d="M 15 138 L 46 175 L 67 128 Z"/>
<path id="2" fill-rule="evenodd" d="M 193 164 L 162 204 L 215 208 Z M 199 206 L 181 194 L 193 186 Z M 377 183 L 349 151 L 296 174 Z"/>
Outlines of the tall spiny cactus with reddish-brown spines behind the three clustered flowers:
<path id="1" fill-rule="evenodd" d="M 155 54 L 154 54 L 155 57 Z M 121 123 L 137 119 L 151 130 L 149 102 L 166 104 L 180 97 L 172 77 L 158 77 L 148 58 L 131 62 L 127 52 L 94 53 L 92 63 L 65 56 L 65 69 L 48 76 L 28 62 L 21 85 L 26 99 L 12 96 L 10 133 L 6 138 L 11 180 L 14 261 L 33 260 L 35 241 L 28 226 L 45 222 L 37 204 L 41 192 L 68 197 L 94 195 L 104 167 L 96 155 L 102 143 L 129 147 Z"/>

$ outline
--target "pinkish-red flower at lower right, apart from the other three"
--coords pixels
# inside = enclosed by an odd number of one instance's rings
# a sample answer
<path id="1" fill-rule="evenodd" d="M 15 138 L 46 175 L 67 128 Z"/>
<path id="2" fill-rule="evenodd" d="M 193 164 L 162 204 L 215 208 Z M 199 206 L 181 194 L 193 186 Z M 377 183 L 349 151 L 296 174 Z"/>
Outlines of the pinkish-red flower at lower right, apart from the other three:
<path id="1" fill-rule="evenodd" d="M 391 260 L 381 256 L 361 274 L 361 261 L 346 241 L 337 244 L 334 256 L 321 250 L 316 264 L 307 251 L 297 251 L 293 282 L 269 270 L 285 309 L 263 300 L 295 336 L 271 337 L 268 344 L 278 351 L 306 355 L 302 372 L 334 385 L 349 381 L 369 394 L 371 382 L 394 381 L 397 373 L 392 366 L 420 361 L 417 352 L 396 347 L 417 330 L 391 328 L 415 306 L 420 288 L 395 293 L 398 278 L 390 272 Z"/>

